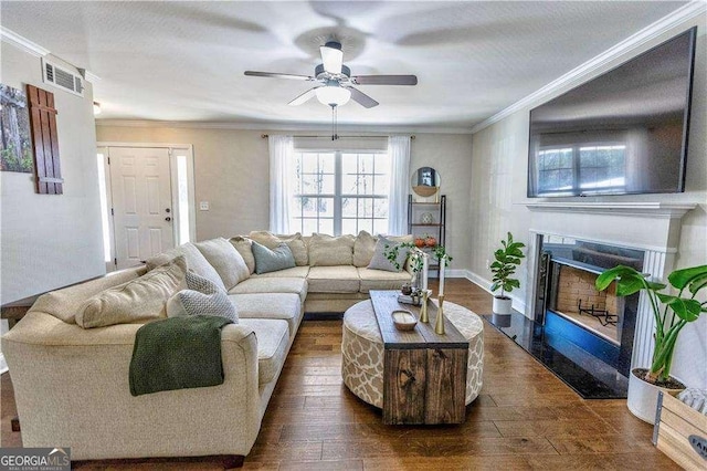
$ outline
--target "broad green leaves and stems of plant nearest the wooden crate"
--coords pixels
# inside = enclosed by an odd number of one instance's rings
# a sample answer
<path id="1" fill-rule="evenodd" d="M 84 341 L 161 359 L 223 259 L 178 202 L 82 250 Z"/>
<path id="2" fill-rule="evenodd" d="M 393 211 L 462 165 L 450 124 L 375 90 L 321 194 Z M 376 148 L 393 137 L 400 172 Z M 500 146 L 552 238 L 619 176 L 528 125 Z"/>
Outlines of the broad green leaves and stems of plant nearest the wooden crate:
<path id="1" fill-rule="evenodd" d="M 646 280 L 636 270 L 618 265 L 597 278 L 598 291 L 603 291 L 616 281 L 616 295 L 630 296 L 645 291 L 655 318 L 655 349 L 648 371 L 642 378 L 654 385 L 667 384 L 673 363 L 673 352 L 677 335 L 689 322 L 695 322 L 700 313 L 707 312 L 707 302 L 696 300 L 697 294 L 707 287 L 707 265 L 675 270 L 667 276 L 677 295 L 661 293 L 663 283 Z"/>

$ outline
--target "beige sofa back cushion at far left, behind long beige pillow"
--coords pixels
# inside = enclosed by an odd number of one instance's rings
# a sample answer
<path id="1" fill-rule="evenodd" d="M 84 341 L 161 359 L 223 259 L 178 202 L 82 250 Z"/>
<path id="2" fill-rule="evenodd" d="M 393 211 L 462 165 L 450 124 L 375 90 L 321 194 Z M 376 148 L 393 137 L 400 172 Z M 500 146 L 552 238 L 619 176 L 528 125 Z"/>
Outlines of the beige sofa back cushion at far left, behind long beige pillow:
<path id="1" fill-rule="evenodd" d="M 88 297 L 109 287 L 136 280 L 145 273 L 145 266 L 126 269 L 73 286 L 50 291 L 42 294 L 30 311 L 43 312 L 67 324 L 76 324 L 76 313 Z"/>

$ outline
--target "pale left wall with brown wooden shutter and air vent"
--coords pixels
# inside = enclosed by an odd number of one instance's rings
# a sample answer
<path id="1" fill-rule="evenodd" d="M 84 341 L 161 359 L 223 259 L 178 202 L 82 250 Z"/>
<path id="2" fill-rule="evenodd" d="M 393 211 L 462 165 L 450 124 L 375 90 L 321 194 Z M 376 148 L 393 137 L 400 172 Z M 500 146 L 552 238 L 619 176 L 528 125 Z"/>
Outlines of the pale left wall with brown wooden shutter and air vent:
<path id="1" fill-rule="evenodd" d="M 92 86 L 80 97 L 45 85 L 39 57 L 1 48 L 3 84 L 54 94 L 64 178 L 63 195 L 38 195 L 31 174 L 0 172 L 0 304 L 7 304 L 102 275 L 105 263 Z"/>

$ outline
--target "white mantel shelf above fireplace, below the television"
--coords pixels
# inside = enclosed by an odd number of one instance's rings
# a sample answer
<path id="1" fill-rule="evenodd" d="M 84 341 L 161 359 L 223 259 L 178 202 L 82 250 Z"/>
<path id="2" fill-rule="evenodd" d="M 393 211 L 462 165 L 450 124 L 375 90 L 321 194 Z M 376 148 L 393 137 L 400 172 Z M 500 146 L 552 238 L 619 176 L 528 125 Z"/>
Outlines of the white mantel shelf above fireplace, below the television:
<path id="1" fill-rule="evenodd" d="M 697 207 L 693 202 L 526 202 L 530 211 L 573 212 L 589 214 L 636 216 L 646 218 L 680 219 Z"/>

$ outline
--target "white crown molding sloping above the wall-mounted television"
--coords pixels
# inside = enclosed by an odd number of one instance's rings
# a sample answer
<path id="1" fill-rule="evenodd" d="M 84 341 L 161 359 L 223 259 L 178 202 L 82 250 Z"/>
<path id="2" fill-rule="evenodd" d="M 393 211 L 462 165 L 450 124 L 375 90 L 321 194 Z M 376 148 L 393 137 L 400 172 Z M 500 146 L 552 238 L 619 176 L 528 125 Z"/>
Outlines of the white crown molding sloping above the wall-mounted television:
<path id="1" fill-rule="evenodd" d="M 582 65 L 572 69 L 564 75 L 559 78 L 550 82 L 538 91 L 531 93 L 525 98 L 519 100 L 513 105 L 508 106 L 505 109 L 496 113 L 488 119 L 481 122 L 479 124 L 472 127 L 472 134 L 478 133 L 482 129 L 490 126 L 494 123 L 502 121 L 505 117 L 510 116 L 511 114 L 531 106 L 536 103 L 541 102 L 544 98 L 549 97 L 561 88 L 564 88 L 568 85 L 577 85 L 585 80 L 588 76 L 591 76 L 599 69 L 605 66 L 612 61 L 619 59 L 620 56 L 635 51 L 642 45 L 646 44 L 650 41 L 658 38 L 661 34 L 669 31 L 673 28 L 679 27 L 682 23 L 687 22 L 694 18 L 697 18 L 700 14 L 707 12 L 707 3 L 704 0 L 693 1 L 687 3 L 684 7 L 678 8 L 671 14 L 663 17 L 658 21 L 650 24 L 637 33 L 626 38 L 620 43 L 613 45 L 601 54 L 597 55 L 593 59 L 584 62 Z"/>

